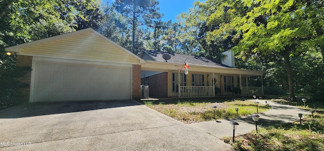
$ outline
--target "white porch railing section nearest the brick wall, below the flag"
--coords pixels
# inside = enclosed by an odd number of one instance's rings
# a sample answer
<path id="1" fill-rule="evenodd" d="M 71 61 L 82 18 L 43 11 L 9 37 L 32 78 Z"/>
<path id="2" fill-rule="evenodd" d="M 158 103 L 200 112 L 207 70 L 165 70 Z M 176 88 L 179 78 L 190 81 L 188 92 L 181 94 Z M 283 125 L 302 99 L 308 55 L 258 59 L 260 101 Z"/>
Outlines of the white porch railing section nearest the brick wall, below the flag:
<path id="1" fill-rule="evenodd" d="M 214 86 L 180 86 L 180 97 L 214 97 Z"/>

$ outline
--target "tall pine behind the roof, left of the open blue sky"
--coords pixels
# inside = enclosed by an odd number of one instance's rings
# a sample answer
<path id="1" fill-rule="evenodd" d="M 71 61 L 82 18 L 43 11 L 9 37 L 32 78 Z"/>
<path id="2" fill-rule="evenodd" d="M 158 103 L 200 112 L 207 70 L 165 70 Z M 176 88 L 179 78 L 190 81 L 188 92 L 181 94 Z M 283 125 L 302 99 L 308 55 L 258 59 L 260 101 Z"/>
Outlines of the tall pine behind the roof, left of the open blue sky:
<path id="1" fill-rule="evenodd" d="M 161 14 L 158 13 L 158 2 L 155 0 L 116 0 L 113 4 L 115 10 L 124 16 L 132 31 L 132 53 L 138 54 L 141 46 L 136 46 L 136 41 L 141 41 L 137 36 L 138 28 L 151 28 L 153 21 L 159 20 Z M 137 43 L 139 44 L 139 43 Z"/>

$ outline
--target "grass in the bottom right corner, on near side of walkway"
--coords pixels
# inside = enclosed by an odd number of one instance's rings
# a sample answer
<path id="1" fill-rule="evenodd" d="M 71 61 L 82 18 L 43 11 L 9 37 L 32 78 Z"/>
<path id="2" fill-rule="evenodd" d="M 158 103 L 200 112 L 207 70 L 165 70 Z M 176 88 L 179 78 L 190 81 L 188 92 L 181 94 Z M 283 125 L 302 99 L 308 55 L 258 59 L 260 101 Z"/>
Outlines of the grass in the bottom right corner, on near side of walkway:
<path id="1" fill-rule="evenodd" d="M 293 123 L 260 128 L 252 132 L 224 141 L 233 145 L 235 150 L 324 150 L 324 110 L 317 109 L 314 118 L 303 117 L 302 125 Z"/>

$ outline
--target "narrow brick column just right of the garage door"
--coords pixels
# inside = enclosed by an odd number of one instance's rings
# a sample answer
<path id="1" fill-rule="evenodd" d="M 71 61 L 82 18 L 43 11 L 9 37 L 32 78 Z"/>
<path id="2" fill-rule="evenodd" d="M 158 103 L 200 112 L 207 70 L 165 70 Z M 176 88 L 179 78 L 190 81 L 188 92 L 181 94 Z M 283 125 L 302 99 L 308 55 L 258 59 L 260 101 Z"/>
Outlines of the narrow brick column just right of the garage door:
<path id="1" fill-rule="evenodd" d="M 132 69 L 132 99 L 141 98 L 141 65 L 133 65 Z"/>

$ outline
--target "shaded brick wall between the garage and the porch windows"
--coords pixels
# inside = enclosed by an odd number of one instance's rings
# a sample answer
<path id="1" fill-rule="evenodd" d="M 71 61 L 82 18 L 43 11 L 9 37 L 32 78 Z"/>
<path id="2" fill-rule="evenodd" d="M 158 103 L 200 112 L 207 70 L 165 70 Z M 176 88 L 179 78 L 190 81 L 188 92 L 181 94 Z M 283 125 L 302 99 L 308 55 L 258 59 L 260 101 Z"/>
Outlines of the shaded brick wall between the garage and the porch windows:
<path id="1" fill-rule="evenodd" d="M 153 76 L 148 77 L 149 81 L 149 96 L 166 98 L 168 97 L 168 73 L 163 72 Z M 144 78 L 142 79 L 142 84 L 145 83 Z"/>

